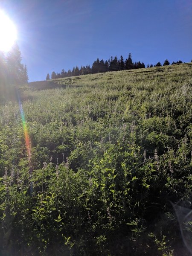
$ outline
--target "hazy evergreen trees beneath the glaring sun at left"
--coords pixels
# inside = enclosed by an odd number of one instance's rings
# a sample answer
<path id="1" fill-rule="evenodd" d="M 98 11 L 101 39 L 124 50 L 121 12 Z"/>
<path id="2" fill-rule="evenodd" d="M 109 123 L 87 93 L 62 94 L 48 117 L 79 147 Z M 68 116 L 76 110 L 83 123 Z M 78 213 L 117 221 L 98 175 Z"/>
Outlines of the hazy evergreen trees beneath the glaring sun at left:
<path id="1" fill-rule="evenodd" d="M 21 63 L 21 53 L 15 43 L 5 55 L 0 51 L 0 81 L 1 83 L 25 84 L 28 82 L 26 65 Z"/>

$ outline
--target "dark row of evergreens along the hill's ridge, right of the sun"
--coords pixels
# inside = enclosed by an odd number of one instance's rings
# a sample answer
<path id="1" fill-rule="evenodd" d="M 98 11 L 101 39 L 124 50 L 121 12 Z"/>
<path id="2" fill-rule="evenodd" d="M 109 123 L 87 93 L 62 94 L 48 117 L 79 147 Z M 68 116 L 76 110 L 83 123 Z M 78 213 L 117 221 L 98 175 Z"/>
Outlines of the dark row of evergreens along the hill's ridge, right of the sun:
<path id="1" fill-rule="evenodd" d="M 180 64 L 183 63 L 182 61 L 173 62 L 173 64 Z M 169 61 L 166 59 L 163 63 L 163 66 L 169 65 Z M 154 66 L 151 64 L 147 65 L 147 67 L 160 67 L 162 66 L 161 63 L 158 61 L 157 64 Z M 123 56 L 121 55 L 120 59 L 118 59 L 116 56 L 113 58 L 111 56 L 111 59 L 109 58 L 108 61 L 104 61 L 103 59 L 99 60 L 99 58 L 96 59 L 96 61 L 93 62 L 92 67 L 90 65 L 81 66 L 79 68 L 78 66 L 73 67 L 73 70 L 70 69 L 68 71 L 65 71 L 64 69 L 61 70 L 61 73 L 55 73 L 55 71 L 52 72 L 51 77 L 49 76 L 49 73 L 47 74 L 46 80 L 49 79 L 57 79 L 57 78 L 64 78 L 64 77 L 70 77 L 70 76 L 80 76 L 80 75 L 87 75 L 87 74 L 95 74 L 95 73 L 105 73 L 108 71 L 119 71 L 119 70 L 131 70 L 131 69 L 139 69 L 139 68 L 145 68 L 145 64 L 143 62 L 133 62 L 131 53 L 129 53 L 128 58 L 124 61 Z"/>

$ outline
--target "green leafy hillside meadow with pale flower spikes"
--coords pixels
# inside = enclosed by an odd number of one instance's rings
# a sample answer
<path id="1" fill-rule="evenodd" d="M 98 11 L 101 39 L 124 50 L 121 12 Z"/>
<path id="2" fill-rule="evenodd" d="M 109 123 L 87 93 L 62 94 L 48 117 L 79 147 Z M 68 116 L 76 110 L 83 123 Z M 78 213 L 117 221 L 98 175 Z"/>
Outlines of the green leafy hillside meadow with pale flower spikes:
<path id="1" fill-rule="evenodd" d="M 0 255 L 190 255 L 191 70 L 1 84 Z"/>

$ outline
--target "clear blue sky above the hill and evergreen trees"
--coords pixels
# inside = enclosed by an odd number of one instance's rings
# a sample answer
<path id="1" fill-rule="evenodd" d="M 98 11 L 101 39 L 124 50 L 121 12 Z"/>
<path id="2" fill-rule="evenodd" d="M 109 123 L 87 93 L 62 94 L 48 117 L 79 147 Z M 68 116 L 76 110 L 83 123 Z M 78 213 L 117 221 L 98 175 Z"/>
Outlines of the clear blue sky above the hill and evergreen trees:
<path id="1" fill-rule="evenodd" d="M 129 52 L 132 61 L 192 60 L 191 0 L 0 0 L 17 27 L 29 81 Z"/>

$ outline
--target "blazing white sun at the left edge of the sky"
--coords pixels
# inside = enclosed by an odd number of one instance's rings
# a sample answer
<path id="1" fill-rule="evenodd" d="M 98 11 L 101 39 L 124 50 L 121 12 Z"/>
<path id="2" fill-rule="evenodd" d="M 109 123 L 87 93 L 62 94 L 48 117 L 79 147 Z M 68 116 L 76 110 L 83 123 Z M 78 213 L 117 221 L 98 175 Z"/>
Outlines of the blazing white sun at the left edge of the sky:
<path id="1" fill-rule="evenodd" d="M 17 38 L 17 31 L 10 18 L 0 10 L 0 51 L 8 52 Z"/>

